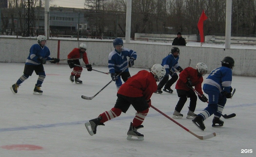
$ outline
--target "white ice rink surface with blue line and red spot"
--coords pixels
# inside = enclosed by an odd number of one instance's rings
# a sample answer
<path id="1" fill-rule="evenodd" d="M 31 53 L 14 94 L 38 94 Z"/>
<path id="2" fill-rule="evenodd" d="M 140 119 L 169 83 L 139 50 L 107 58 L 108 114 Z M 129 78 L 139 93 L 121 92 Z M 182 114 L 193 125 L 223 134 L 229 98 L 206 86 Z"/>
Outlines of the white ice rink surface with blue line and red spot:
<path id="1" fill-rule="evenodd" d="M 105 122 L 105 126 L 98 126 L 93 136 L 84 126 L 86 121 L 114 106 L 117 98 L 114 82 L 92 100 L 81 98 L 81 95 L 96 94 L 111 81 L 110 75 L 84 69 L 80 78 L 83 84 L 75 84 L 69 81 L 68 65 L 45 64 L 43 95 L 32 94 L 38 78 L 35 73 L 13 94 L 10 86 L 23 75 L 24 63 L 0 63 L 0 67 L 0 156 L 256 156 L 255 77 L 233 76 L 232 87 L 236 93 L 227 100 L 223 114 L 236 113 L 236 117 L 222 117 L 223 127 L 211 127 L 211 116 L 204 121 L 205 131 L 199 130 L 185 116 L 189 99 L 181 111 L 183 119 L 175 119 L 197 135 L 216 132 L 216 137 L 200 140 L 150 108 L 144 128 L 138 130 L 144 134 L 144 141 L 129 141 L 127 131 L 136 112 L 132 106 L 126 113 Z M 93 69 L 108 72 L 106 66 L 93 66 Z M 139 70 L 142 68 L 130 68 L 130 73 L 134 75 Z M 151 100 L 152 105 L 172 117 L 178 96 L 174 90 L 173 94 L 153 94 Z M 206 106 L 198 99 L 195 113 Z M 250 149 L 252 152 L 241 153 Z"/>

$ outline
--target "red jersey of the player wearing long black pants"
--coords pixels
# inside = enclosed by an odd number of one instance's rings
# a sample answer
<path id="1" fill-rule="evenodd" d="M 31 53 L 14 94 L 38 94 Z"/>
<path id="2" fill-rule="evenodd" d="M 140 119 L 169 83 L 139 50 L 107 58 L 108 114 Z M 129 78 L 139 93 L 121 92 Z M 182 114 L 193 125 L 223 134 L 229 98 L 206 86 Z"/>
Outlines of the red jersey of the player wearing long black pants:
<path id="1" fill-rule="evenodd" d="M 197 69 L 194 69 L 192 67 L 185 68 L 179 74 L 179 79 L 176 83 L 175 89 L 181 89 L 181 90 L 189 91 L 190 88 L 186 84 L 188 78 L 191 80 L 192 86 L 195 86 L 195 90 L 198 91 L 198 93 L 203 94 L 203 92 L 202 92 L 202 82 L 203 82 L 204 79 L 203 79 L 202 76 L 198 76 Z"/>

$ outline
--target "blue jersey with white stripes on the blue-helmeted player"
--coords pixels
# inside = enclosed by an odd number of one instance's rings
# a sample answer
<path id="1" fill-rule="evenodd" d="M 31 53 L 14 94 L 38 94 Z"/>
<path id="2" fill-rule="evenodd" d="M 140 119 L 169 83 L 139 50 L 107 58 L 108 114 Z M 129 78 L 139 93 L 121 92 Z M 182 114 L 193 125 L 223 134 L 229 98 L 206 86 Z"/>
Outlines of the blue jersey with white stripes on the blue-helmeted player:
<path id="1" fill-rule="evenodd" d="M 134 60 L 137 58 L 137 53 L 131 49 L 123 48 L 121 52 L 116 50 L 109 53 L 108 67 L 110 73 L 122 72 L 124 68 L 128 66 L 128 57 L 133 57 Z M 124 71 L 127 72 L 128 68 Z"/>

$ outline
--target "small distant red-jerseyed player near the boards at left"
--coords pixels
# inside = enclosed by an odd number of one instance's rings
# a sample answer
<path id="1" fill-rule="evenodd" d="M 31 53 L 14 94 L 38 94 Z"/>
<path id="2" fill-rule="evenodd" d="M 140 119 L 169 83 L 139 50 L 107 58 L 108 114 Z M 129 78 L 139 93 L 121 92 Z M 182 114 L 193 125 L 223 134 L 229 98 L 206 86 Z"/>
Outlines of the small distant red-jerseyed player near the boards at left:
<path id="1" fill-rule="evenodd" d="M 74 59 L 74 58 L 79 58 L 79 59 L 83 59 L 83 62 L 86 64 L 85 66 L 87 67 L 87 71 L 92 71 L 92 65 L 89 64 L 88 58 L 87 58 L 87 53 L 86 53 L 86 49 L 87 46 L 84 43 L 81 43 L 79 48 L 74 48 L 69 54 L 68 54 L 68 59 Z M 74 64 L 77 65 L 81 65 L 80 61 L 78 59 L 76 60 L 68 60 L 68 65 L 70 67 L 70 69 L 73 68 L 71 75 L 69 77 L 69 80 L 73 83 L 75 81 L 75 83 L 77 84 L 82 84 L 83 81 L 79 80 L 82 70 L 83 68 L 80 66 L 76 66 Z M 74 78 L 75 77 L 75 78 Z"/>

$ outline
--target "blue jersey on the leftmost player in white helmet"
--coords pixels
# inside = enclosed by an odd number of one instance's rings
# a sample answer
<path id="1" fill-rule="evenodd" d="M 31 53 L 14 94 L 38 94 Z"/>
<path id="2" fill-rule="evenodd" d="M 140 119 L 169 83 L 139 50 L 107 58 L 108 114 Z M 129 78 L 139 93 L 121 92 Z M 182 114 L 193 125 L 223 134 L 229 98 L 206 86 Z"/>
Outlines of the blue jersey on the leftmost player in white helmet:
<path id="1" fill-rule="evenodd" d="M 28 55 L 28 58 L 27 58 L 25 64 L 39 65 L 39 64 L 41 64 L 41 62 L 38 61 L 37 59 L 39 57 L 43 57 L 46 60 L 51 60 L 49 55 L 50 55 L 50 50 L 48 49 L 47 46 L 44 46 L 42 48 L 39 44 L 34 44 L 34 45 L 31 46 L 31 48 L 29 50 L 29 55 Z"/>

